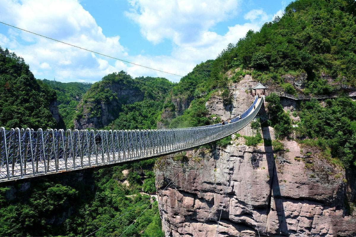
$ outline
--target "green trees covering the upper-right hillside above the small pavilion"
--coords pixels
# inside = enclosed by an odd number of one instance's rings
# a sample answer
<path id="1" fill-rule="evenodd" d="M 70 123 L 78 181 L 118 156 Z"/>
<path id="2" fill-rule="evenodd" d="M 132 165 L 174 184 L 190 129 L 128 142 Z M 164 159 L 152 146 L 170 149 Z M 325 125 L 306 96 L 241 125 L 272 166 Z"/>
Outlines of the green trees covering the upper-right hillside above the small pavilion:
<path id="1" fill-rule="evenodd" d="M 227 70 L 253 68 L 252 76 L 282 83 L 281 75 L 307 73 L 305 93 L 327 94 L 332 87 L 319 77 L 334 81 L 343 76 L 356 85 L 355 18 L 353 1 L 298 0 L 290 3 L 282 18 L 265 23 L 259 32 L 248 31 L 229 44 L 213 62 L 218 79 Z"/>

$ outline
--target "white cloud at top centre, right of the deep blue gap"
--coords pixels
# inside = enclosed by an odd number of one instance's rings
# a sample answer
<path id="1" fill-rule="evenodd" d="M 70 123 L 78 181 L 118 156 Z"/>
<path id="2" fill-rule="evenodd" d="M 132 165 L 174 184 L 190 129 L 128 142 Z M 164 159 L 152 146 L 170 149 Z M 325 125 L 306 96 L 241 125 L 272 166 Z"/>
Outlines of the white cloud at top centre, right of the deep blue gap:
<path id="1" fill-rule="evenodd" d="M 159 43 L 164 38 L 177 45 L 194 43 L 216 23 L 235 16 L 241 0 L 131 0 L 126 15 L 140 25 L 148 41 Z"/>

